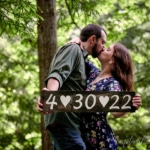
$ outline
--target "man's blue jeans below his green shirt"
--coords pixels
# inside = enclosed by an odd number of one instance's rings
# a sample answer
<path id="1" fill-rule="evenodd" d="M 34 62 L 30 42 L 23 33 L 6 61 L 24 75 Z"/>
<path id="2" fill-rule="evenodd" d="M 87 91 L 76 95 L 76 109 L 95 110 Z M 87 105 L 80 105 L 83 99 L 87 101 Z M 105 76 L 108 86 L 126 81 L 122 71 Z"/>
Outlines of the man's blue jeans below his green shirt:
<path id="1" fill-rule="evenodd" d="M 48 131 L 54 143 L 54 150 L 86 150 L 81 135 L 74 129 L 49 128 Z"/>

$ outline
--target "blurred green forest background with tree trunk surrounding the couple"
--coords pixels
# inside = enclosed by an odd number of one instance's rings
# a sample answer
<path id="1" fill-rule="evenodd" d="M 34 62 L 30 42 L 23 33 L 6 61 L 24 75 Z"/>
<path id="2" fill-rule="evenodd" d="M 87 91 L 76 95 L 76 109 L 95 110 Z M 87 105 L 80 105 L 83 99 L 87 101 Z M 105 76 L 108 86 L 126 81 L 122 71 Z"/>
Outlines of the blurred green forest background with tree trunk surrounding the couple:
<path id="1" fill-rule="evenodd" d="M 145 150 L 150 142 L 150 1 L 1 0 L 0 150 L 51 150 L 37 98 L 57 48 L 89 23 L 103 26 L 106 46 L 125 44 L 132 55 L 135 92 L 143 105 L 109 123 L 119 150 Z M 97 59 L 92 59 L 99 66 Z"/>

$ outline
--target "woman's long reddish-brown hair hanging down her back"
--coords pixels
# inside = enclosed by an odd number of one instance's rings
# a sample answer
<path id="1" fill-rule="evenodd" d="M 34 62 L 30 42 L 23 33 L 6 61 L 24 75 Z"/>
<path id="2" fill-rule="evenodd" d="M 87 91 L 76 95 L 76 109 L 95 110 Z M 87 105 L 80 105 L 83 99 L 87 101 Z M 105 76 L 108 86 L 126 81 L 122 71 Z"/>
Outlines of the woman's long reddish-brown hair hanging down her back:
<path id="1" fill-rule="evenodd" d="M 113 77 L 119 81 L 123 91 L 133 91 L 133 67 L 128 49 L 121 43 L 115 43 L 113 57 Z"/>

